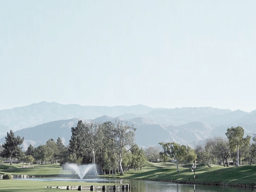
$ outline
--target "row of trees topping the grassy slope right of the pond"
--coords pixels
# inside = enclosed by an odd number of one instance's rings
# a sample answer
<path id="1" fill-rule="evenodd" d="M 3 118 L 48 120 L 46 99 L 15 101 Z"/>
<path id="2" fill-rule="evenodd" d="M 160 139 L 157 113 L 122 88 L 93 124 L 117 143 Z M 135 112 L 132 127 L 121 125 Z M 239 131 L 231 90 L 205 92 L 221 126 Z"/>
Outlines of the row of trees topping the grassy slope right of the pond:
<path id="1" fill-rule="evenodd" d="M 163 151 L 160 152 L 162 161 L 174 159 L 179 171 L 179 163 L 191 163 L 194 160 L 203 162 L 211 167 L 211 164 L 223 164 L 229 166 L 253 164 L 256 161 L 256 138 L 250 143 L 251 136 L 244 137 L 244 129 L 241 126 L 227 129 L 226 137 L 213 137 L 207 139 L 204 145 L 197 145 L 195 149 L 189 146 L 179 145 L 175 142 L 160 142 Z"/>

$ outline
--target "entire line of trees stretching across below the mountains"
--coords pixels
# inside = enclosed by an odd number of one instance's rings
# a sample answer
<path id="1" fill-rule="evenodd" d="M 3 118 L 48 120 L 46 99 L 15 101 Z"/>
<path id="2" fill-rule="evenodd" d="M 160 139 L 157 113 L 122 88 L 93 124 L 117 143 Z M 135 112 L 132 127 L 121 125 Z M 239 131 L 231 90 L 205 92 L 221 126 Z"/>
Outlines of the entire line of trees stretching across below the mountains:
<path id="1" fill-rule="evenodd" d="M 26 151 L 20 147 L 24 138 L 15 137 L 11 130 L 7 132 L 0 156 L 9 159 L 10 164 L 13 158 L 27 164 L 95 163 L 102 174 L 138 170 L 145 166 L 146 161 L 165 163 L 174 160 L 177 171 L 179 164 L 191 163 L 195 159 L 209 167 L 211 164 L 229 166 L 230 162 L 241 165 L 256 161 L 256 139 L 250 143 L 251 136 L 244 137 L 241 126 L 228 128 L 226 138 L 207 139 L 204 145 L 197 145 L 195 149 L 175 142 L 160 142 L 162 151 L 158 147 L 139 148 L 134 142 L 135 130 L 135 127 L 121 121 L 78 121 L 76 127 L 71 127 L 69 145 L 63 145 L 60 138 L 57 141 L 49 139 L 45 145 L 35 148 L 30 145 Z"/>

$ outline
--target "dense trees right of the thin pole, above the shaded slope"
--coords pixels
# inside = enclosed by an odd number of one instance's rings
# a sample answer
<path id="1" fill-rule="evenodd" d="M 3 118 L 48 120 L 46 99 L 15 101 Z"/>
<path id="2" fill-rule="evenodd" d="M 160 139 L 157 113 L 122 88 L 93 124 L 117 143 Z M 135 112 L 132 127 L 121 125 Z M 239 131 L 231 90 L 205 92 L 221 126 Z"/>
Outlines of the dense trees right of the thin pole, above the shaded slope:
<path id="1" fill-rule="evenodd" d="M 212 163 L 238 166 L 242 162 L 252 164 L 255 161 L 256 145 L 255 143 L 250 145 L 250 135 L 244 138 L 243 127 L 228 128 L 226 136 L 227 138 L 210 138 L 204 146 L 196 146 L 197 161 L 204 162 L 209 167 Z"/>

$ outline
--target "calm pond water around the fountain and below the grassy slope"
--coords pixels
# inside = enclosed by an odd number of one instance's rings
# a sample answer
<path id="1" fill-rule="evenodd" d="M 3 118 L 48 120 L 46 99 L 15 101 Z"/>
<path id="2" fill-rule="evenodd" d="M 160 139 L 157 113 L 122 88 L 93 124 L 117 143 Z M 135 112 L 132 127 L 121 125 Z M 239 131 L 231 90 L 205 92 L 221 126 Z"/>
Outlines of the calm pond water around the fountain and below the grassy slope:
<path id="1" fill-rule="evenodd" d="M 137 179 L 115 179 L 115 178 L 85 178 L 85 179 L 67 179 L 67 178 L 31 178 L 27 180 L 42 181 L 78 181 L 78 182 L 98 182 L 98 183 L 129 183 L 131 192 L 194 192 L 194 185 L 178 184 L 163 181 L 147 181 Z M 81 183 L 86 185 L 86 183 Z M 238 188 L 229 186 L 196 185 L 196 192 L 249 192 L 256 191 L 252 188 Z"/>

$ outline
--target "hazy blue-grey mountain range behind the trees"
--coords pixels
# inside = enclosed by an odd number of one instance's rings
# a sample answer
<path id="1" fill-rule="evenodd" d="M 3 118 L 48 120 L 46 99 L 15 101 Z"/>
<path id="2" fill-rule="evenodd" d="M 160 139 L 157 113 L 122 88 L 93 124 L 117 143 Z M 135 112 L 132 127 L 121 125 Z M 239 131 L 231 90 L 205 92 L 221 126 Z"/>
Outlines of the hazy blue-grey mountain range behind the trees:
<path id="1" fill-rule="evenodd" d="M 35 147 L 49 139 L 60 137 L 68 145 L 71 127 L 79 120 L 120 120 L 137 127 L 135 139 L 139 146 L 157 146 L 159 142 L 174 141 L 194 147 L 214 135 L 225 137 L 231 126 L 243 126 L 245 134 L 256 130 L 256 110 L 245 111 L 212 107 L 184 107 L 175 109 L 136 106 L 80 106 L 56 102 L 40 102 L 25 107 L 0 110 L 0 143 L 5 142 L 10 129 L 24 137 L 23 148 Z"/>

